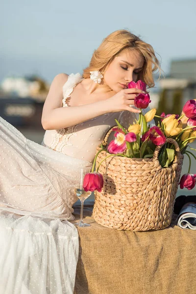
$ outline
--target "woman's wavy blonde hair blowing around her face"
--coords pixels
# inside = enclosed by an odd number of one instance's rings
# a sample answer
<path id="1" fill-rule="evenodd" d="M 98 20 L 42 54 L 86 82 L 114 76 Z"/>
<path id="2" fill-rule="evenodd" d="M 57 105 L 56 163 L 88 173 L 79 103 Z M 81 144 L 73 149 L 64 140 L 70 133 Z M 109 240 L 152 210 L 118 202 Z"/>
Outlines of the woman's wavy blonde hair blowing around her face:
<path id="1" fill-rule="evenodd" d="M 103 39 L 98 49 L 94 51 L 89 66 L 83 70 L 83 77 L 89 78 L 91 71 L 104 72 L 114 58 L 124 49 L 137 50 L 144 57 L 144 66 L 138 74 L 138 80 L 143 80 L 148 88 L 154 87 L 152 73 L 158 70 L 160 77 L 162 72 L 154 49 L 138 36 L 125 29 L 114 31 Z"/>

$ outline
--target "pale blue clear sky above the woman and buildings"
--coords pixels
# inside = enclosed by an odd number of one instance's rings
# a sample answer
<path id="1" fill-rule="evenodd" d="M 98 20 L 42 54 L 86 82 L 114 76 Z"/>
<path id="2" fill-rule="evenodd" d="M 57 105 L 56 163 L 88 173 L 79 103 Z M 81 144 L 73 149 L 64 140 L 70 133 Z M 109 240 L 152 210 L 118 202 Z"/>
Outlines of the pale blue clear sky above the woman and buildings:
<path id="1" fill-rule="evenodd" d="M 0 82 L 82 73 L 118 29 L 152 45 L 166 74 L 171 60 L 196 58 L 195 0 L 1 0 L 0 6 Z"/>

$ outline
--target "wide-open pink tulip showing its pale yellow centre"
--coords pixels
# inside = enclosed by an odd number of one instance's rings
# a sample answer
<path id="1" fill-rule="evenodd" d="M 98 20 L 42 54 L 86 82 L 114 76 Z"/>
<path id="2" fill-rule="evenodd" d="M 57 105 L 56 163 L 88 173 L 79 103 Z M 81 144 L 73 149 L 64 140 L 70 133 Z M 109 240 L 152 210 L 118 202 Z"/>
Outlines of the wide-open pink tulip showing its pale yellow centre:
<path id="1" fill-rule="evenodd" d="M 112 140 L 108 145 L 107 149 L 111 154 L 121 153 L 126 149 L 126 141 L 134 142 L 137 140 L 135 133 L 128 133 L 125 135 L 122 129 L 114 128 L 115 131 L 114 136 L 115 140 Z"/>

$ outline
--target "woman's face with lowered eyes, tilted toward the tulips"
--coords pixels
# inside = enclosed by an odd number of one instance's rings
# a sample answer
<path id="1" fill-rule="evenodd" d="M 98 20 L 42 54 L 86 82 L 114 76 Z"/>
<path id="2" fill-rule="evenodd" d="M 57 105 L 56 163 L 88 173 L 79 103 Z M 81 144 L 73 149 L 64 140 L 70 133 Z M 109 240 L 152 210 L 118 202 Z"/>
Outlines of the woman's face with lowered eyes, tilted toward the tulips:
<path id="1" fill-rule="evenodd" d="M 137 50 L 124 49 L 103 73 L 104 83 L 118 93 L 126 89 L 129 82 L 137 81 L 143 65 L 144 57 Z"/>

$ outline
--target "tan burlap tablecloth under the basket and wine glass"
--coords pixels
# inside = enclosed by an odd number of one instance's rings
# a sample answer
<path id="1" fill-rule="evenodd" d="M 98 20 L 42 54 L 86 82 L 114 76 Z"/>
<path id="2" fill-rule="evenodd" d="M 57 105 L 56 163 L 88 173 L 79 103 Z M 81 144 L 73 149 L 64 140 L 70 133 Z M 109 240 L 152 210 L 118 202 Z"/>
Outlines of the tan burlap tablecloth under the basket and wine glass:
<path id="1" fill-rule="evenodd" d="M 80 218 L 80 202 L 73 206 Z M 84 202 L 74 294 L 196 294 L 196 231 L 176 225 L 132 232 L 99 225 Z"/>

